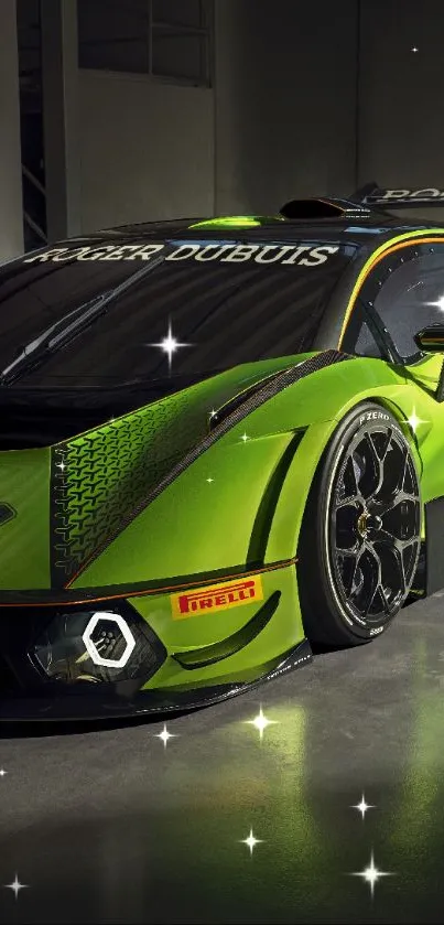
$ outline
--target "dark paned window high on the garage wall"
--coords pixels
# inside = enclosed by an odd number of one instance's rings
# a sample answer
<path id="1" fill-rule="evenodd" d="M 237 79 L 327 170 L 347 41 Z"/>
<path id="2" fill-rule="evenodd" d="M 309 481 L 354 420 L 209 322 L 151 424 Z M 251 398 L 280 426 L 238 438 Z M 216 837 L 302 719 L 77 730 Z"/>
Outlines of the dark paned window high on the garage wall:
<path id="1" fill-rule="evenodd" d="M 77 0 L 80 67 L 210 85 L 212 0 Z"/>

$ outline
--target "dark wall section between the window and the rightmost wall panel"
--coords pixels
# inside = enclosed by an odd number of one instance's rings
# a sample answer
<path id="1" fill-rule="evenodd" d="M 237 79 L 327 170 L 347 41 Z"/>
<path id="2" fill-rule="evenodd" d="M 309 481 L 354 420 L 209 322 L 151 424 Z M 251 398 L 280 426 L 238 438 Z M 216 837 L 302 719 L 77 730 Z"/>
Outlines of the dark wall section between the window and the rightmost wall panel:
<path id="1" fill-rule="evenodd" d="M 355 189 L 357 0 L 216 0 L 216 207 Z"/>

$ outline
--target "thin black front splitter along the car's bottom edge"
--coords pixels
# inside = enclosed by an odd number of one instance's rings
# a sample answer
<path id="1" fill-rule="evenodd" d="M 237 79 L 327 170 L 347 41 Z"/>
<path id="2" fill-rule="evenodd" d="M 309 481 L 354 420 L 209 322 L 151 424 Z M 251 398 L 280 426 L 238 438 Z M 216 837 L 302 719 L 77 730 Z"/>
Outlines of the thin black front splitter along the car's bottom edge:
<path id="1" fill-rule="evenodd" d="M 253 681 L 212 685 L 189 690 L 142 690 L 131 697 L 84 693 L 79 688 L 57 697 L 11 697 L 0 702 L 0 722 L 51 722 L 69 720 L 118 720 L 139 716 L 181 713 L 209 707 L 247 690 L 252 690 L 280 675 L 307 665 L 313 658 L 307 639 L 288 652 L 272 669 Z"/>

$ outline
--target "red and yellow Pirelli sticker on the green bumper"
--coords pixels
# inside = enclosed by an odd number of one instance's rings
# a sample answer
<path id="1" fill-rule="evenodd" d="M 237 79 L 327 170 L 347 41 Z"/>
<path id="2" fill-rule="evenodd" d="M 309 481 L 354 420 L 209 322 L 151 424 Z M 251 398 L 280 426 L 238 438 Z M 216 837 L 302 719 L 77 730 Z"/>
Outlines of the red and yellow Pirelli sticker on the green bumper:
<path id="1" fill-rule="evenodd" d="M 221 584 L 172 594 L 171 607 L 174 620 L 186 620 L 188 616 L 241 607 L 243 604 L 252 604 L 256 601 L 263 601 L 261 576 L 239 581 L 224 581 Z"/>

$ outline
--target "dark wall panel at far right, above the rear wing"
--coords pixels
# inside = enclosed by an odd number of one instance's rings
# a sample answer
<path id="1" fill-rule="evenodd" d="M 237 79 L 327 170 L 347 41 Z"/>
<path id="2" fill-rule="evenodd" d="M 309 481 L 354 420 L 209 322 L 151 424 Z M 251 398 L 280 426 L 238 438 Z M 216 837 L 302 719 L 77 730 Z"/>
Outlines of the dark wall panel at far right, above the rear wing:
<path id="1" fill-rule="evenodd" d="M 359 182 L 444 189 L 444 4 L 361 6 Z M 444 218 L 444 209 L 421 214 Z"/>

